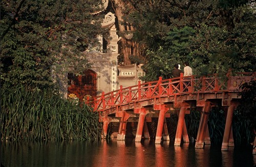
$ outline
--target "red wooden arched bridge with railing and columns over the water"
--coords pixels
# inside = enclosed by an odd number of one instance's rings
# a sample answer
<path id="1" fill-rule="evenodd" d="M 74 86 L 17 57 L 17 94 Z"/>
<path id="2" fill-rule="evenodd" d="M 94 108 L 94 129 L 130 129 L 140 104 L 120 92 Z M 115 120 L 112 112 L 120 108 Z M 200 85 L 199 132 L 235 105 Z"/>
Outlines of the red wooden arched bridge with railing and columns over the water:
<path id="1" fill-rule="evenodd" d="M 124 140 L 127 122 L 138 122 L 135 142 L 140 142 L 142 133 L 150 138 L 146 122 L 158 118 L 155 144 L 169 140 L 165 118 L 170 114 L 178 114 L 178 125 L 175 146 L 180 146 L 183 139 L 189 142 L 185 124 L 185 114 L 191 108 L 201 108 L 201 119 L 197 133 L 196 148 L 203 148 L 210 144 L 208 133 L 208 116 L 212 106 L 222 106 L 226 111 L 226 124 L 222 143 L 222 150 L 233 146 L 231 130 L 233 110 L 239 104 L 240 85 L 255 80 L 256 73 L 237 73 L 236 76 L 218 74 L 208 76 L 186 76 L 157 81 L 140 82 L 136 86 L 122 88 L 113 92 L 88 99 L 95 112 L 99 112 L 103 122 L 103 136 L 105 137 L 110 122 L 119 122 L 117 140 Z M 254 142 L 255 143 L 255 142 Z"/>

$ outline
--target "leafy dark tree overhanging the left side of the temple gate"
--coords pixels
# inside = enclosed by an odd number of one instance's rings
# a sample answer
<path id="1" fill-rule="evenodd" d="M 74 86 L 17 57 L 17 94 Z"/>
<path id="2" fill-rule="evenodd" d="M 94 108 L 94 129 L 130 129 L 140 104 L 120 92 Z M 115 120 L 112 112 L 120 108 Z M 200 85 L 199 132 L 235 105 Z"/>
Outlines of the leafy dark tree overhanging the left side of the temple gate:
<path id="1" fill-rule="evenodd" d="M 46 86 L 90 67 L 82 51 L 97 47 L 101 1 L 1 1 L 1 82 Z M 75 68 L 72 68 L 75 67 Z"/>

